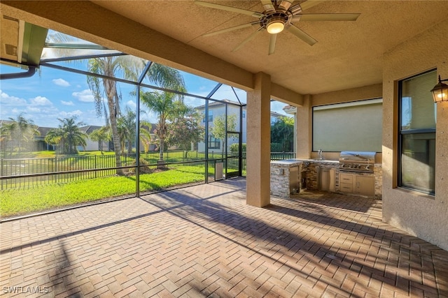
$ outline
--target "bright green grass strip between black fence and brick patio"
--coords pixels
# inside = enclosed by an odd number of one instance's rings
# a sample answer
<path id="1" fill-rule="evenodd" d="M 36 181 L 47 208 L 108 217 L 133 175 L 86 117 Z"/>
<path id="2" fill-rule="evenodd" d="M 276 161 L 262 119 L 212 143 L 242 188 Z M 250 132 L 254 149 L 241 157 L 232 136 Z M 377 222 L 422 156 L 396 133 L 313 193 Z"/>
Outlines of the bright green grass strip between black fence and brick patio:
<path id="1" fill-rule="evenodd" d="M 140 191 L 204 181 L 204 166 L 179 166 L 170 170 L 140 175 Z M 0 191 L 1 217 L 31 214 L 37 211 L 132 195 L 136 191 L 135 176 L 114 176 L 50 184 L 28 189 Z"/>

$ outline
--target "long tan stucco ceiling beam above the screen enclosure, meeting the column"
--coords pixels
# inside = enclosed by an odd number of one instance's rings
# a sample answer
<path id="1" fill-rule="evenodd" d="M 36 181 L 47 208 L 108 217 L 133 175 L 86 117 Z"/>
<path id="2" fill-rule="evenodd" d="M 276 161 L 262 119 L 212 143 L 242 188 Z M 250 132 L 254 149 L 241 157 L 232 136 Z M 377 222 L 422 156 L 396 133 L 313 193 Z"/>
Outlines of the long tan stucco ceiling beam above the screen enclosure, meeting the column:
<path id="1" fill-rule="evenodd" d="M 246 91 L 253 89 L 253 73 L 248 70 L 181 43 L 90 1 L 2 0 L 0 8 L 2 14 L 18 20 L 25 20 L 239 89 Z M 272 91 L 274 98 L 293 103 L 296 103 L 296 100 L 291 100 L 292 98 L 300 98 L 300 94 L 274 85 Z"/>

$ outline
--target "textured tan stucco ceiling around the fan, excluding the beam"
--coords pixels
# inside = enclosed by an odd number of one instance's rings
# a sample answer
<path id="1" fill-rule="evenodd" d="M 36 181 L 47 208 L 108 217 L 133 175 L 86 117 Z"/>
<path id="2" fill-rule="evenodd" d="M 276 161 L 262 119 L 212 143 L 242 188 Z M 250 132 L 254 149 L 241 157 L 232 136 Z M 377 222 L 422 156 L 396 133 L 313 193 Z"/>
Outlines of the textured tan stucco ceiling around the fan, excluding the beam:
<path id="1" fill-rule="evenodd" d="M 262 12 L 260 1 L 207 1 Z M 198 6 L 187 0 L 94 3 L 252 73 L 268 73 L 277 84 L 300 94 L 380 83 L 382 54 L 448 15 L 448 1 L 323 1 L 303 13 L 361 15 L 356 22 L 300 21 L 297 27 L 318 43 L 310 46 L 283 31 L 277 38 L 275 53 L 268 55 L 266 31 L 237 52 L 232 49 L 253 28 L 202 37 L 210 31 L 252 22 L 254 18 L 247 15 Z"/>

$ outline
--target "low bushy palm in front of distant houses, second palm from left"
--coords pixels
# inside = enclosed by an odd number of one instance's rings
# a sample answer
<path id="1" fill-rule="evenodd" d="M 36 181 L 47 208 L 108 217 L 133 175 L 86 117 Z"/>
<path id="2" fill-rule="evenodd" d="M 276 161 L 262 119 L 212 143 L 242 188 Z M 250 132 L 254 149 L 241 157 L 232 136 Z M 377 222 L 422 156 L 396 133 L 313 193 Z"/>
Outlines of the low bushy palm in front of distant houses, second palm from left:
<path id="1" fill-rule="evenodd" d="M 76 116 L 70 118 L 58 118 L 58 128 L 48 131 L 45 136 L 45 142 L 49 144 L 59 144 L 59 150 L 62 154 L 77 154 L 76 146 L 81 145 L 85 148 L 87 145 L 87 134 L 80 131 L 78 126 L 85 125 L 83 122 L 76 123 Z"/>

